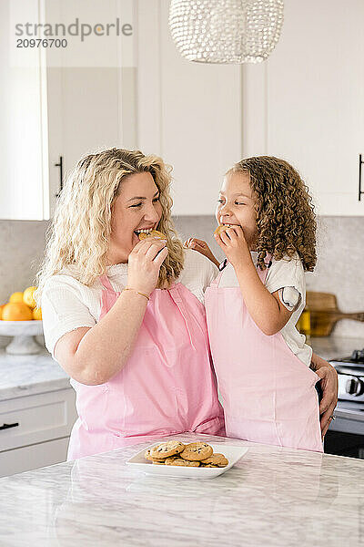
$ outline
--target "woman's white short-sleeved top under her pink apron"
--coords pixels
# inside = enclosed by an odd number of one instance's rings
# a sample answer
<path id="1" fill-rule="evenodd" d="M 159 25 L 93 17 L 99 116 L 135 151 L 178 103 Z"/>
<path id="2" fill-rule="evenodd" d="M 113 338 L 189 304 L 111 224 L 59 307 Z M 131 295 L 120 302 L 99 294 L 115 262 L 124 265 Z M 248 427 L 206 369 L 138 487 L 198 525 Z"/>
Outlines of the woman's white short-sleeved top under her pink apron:
<path id="1" fill-rule="evenodd" d="M 127 264 L 109 266 L 106 274 L 113 289 L 122 291 L 127 281 Z M 185 267 L 177 282 L 184 284 L 204 303 L 205 290 L 217 274 L 217 267 L 204 255 L 187 249 Z M 41 306 L 45 346 L 53 357 L 61 336 L 80 326 L 96 325 L 101 312 L 102 291 L 99 279 L 90 287 L 77 281 L 72 275 L 72 266 L 46 280 Z"/>

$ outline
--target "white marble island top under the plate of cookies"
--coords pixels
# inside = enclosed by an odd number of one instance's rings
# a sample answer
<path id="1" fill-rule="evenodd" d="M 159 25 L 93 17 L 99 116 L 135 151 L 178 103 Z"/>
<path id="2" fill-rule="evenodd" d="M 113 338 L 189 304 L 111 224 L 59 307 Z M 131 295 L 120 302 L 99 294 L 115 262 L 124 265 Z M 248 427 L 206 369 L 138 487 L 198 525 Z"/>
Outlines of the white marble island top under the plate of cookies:
<path id="1" fill-rule="evenodd" d="M 248 452 L 210 480 L 150 477 L 126 466 L 148 443 L 5 477 L 0 544 L 364 545 L 361 459 L 207 435 L 174 438 Z"/>

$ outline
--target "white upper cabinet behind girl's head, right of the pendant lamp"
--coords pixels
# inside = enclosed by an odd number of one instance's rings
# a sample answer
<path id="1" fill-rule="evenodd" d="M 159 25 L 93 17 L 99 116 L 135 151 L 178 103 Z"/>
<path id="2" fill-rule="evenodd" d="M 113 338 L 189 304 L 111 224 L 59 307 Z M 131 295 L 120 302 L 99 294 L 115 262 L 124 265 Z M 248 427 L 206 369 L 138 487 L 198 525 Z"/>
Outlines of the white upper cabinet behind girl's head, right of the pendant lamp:
<path id="1" fill-rule="evenodd" d="M 244 155 L 292 163 L 322 215 L 364 215 L 363 21 L 362 0 L 288 0 L 276 49 L 243 70 Z"/>

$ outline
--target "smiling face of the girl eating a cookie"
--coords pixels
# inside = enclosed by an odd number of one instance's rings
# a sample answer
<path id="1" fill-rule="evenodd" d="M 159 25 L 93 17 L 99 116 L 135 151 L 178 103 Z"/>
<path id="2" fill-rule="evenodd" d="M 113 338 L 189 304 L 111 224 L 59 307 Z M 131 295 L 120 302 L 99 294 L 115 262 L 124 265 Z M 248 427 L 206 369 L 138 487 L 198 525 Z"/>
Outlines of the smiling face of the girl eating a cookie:
<path id="1" fill-rule="evenodd" d="M 248 175 L 237 172 L 228 174 L 219 192 L 217 222 L 241 226 L 250 250 L 254 250 L 257 236 L 257 212 L 254 205 Z"/>

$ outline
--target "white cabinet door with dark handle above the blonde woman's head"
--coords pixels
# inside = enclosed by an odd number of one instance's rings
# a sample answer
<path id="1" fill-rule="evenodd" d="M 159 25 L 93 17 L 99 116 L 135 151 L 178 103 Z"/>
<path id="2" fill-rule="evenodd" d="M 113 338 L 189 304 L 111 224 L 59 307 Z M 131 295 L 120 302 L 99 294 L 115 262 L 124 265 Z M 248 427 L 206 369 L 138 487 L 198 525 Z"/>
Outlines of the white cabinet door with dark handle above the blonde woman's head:
<path id="1" fill-rule="evenodd" d="M 121 69 L 117 67 L 47 68 L 47 165 L 50 218 L 63 183 L 86 153 L 120 147 L 119 112 Z"/>

